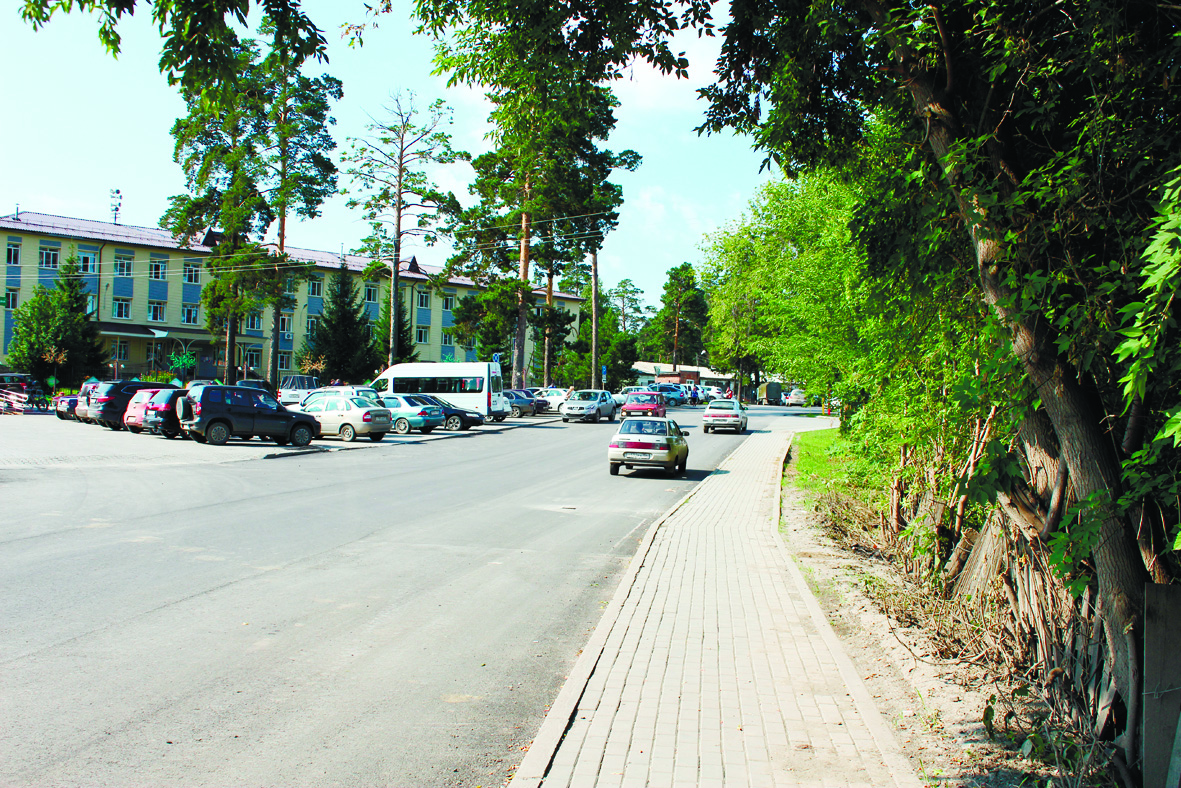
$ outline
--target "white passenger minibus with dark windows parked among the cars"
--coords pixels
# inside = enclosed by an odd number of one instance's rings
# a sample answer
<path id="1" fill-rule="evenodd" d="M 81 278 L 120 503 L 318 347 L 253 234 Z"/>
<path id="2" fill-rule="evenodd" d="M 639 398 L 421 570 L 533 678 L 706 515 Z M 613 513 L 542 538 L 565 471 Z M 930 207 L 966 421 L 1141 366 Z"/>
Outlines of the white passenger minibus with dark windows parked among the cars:
<path id="1" fill-rule="evenodd" d="M 383 393 L 429 393 L 484 418 L 503 421 L 509 412 L 495 362 L 415 362 L 394 364 L 370 384 Z"/>

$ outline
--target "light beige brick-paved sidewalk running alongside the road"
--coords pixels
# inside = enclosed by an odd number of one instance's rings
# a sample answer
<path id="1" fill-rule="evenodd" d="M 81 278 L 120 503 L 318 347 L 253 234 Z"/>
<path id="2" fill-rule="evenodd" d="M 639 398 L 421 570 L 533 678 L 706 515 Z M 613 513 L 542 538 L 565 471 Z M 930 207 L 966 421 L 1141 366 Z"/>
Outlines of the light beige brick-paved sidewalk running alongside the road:
<path id="1" fill-rule="evenodd" d="M 652 527 L 510 788 L 920 784 L 778 535 L 790 438 Z"/>

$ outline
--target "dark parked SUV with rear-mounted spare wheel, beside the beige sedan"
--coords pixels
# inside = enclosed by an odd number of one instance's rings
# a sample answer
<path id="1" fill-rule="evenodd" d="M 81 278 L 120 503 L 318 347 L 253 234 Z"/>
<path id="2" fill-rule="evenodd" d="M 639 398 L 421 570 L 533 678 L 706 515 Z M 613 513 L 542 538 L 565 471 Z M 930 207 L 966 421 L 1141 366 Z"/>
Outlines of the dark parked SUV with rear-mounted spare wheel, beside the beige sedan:
<path id="1" fill-rule="evenodd" d="M 181 429 L 197 443 L 222 445 L 231 437 L 254 436 L 279 445 L 307 445 L 320 434 L 308 413 L 291 411 L 266 391 L 244 386 L 203 385 L 176 400 Z"/>

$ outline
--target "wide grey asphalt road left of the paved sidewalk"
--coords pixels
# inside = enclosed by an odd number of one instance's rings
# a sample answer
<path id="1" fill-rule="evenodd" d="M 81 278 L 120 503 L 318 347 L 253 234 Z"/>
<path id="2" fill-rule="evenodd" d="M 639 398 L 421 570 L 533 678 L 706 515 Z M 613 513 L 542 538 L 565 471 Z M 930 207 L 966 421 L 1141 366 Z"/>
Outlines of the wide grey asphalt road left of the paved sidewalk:
<path id="1" fill-rule="evenodd" d="M 0 467 L 0 784 L 501 784 L 645 526 L 744 439 L 673 415 L 687 478 L 609 476 L 608 423 L 154 463 L 40 419 L 110 450 Z"/>

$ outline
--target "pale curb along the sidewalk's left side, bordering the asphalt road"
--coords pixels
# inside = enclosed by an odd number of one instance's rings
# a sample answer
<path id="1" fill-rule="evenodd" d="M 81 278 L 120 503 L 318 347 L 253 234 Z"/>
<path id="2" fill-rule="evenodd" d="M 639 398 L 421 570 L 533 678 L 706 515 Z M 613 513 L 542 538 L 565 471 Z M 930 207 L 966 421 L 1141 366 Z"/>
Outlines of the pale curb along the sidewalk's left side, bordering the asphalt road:
<path id="1" fill-rule="evenodd" d="M 602 617 L 599 619 L 599 624 L 590 634 L 590 639 L 587 642 L 586 646 L 582 647 L 582 653 L 579 655 L 578 660 L 574 663 L 574 669 L 566 678 L 566 683 L 562 684 L 562 689 L 559 691 L 554 703 L 549 706 L 549 711 L 546 714 L 546 718 L 542 721 L 541 728 L 537 730 L 537 735 L 529 745 L 529 751 L 526 753 L 524 758 L 521 761 L 521 766 L 518 766 L 516 771 L 513 774 L 513 779 L 509 781 L 507 788 L 537 788 L 542 780 L 544 780 L 546 773 L 549 770 L 549 764 L 553 762 L 554 755 L 557 754 L 557 748 L 562 743 L 562 737 L 566 736 L 566 730 L 570 727 L 570 722 L 574 719 L 574 715 L 579 708 L 579 701 L 582 699 L 587 684 L 590 682 L 590 676 L 594 673 L 594 670 L 599 664 L 599 659 L 602 657 L 603 649 L 607 645 L 607 636 L 614 627 L 615 621 L 619 619 L 619 613 L 624 608 L 624 604 L 627 601 L 627 598 L 631 597 L 632 590 L 635 587 L 635 578 L 639 575 L 640 569 L 644 567 L 644 562 L 648 558 L 648 552 L 652 549 L 652 543 L 655 541 L 657 533 L 668 517 L 685 506 L 686 501 L 705 489 L 705 486 L 715 477 L 717 471 L 722 470 L 723 465 L 726 464 L 726 461 L 729 461 L 730 457 L 733 456 L 735 451 L 738 451 L 738 449 L 740 449 L 745 443 L 746 442 L 743 441 L 735 447 L 733 451 L 727 454 L 722 462 L 718 463 L 716 470 L 703 478 L 697 487 L 683 495 L 679 501 L 668 507 L 664 514 L 648 526 L 648 530 L 644 535 L 644 541 L 640 543 L 639 549 L 635 551 L 635 555 L 632 556 L 632 562 L 627 567 L 627 573 L 624 575 L 624 579 L 620 580 L 619 587 L 615 590 L 615 594 L 607 605 L 607 610 L 603 611 Z"/>

